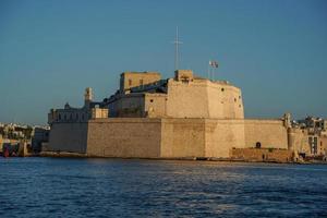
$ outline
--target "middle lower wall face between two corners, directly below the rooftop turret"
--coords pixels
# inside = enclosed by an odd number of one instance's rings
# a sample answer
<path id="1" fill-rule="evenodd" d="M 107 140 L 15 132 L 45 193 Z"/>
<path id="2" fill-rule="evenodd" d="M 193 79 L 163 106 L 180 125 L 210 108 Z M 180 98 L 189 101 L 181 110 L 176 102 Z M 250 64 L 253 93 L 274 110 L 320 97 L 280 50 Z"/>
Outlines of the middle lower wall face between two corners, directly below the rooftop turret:
<path id="1" fill-rule="evenodd" d="M 162 119 L 161 157 L 205 157 L 205 120 Z"/>

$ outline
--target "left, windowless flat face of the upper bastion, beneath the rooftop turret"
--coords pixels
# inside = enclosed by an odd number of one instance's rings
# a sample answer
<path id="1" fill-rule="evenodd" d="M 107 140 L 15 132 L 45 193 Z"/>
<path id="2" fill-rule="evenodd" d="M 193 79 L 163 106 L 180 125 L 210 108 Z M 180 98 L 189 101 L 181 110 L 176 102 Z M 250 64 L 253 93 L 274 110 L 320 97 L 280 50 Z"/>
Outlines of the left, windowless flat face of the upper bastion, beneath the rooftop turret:
<path id="1" fill-rule="evenodd" d="M 167 116 L 172 118 L 208 118 L 208 95 L 205 83 L 169 80 Z"/>

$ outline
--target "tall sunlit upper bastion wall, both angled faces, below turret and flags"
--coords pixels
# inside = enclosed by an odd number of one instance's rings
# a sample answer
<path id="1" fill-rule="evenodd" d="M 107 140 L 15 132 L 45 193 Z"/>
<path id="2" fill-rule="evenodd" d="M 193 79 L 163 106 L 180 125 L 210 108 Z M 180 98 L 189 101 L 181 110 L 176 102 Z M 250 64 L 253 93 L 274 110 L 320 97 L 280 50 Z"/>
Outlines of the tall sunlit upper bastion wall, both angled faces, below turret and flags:
<path id="1" fill-rule="evenodd" d="M 167 116 L 171 118 L 244 118 L 241 90 L 222 82 L 169 80 Z"/>

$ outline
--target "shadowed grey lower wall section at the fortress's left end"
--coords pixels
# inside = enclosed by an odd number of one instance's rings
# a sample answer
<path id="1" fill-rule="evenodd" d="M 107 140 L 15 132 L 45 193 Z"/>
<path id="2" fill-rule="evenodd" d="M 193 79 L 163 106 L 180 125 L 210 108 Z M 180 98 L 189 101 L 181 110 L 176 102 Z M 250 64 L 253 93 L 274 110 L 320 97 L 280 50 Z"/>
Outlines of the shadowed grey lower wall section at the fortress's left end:
<path id="1" fill-rule="evenodd" d="M 87 122 L 53 123 L 49 135 L 49 152 L 86 153 Z"/>

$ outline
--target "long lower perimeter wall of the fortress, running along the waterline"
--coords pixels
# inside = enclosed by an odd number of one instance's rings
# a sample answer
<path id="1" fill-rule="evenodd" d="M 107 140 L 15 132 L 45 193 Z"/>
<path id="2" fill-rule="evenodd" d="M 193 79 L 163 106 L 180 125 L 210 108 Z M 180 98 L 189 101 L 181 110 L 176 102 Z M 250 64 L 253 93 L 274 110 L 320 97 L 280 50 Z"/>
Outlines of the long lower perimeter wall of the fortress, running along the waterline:
<path id="1" fill-rule="evenodd" d="M 229 158 L 232 148 L 288 148 L 279 120 L 109 118 L 53 123 L 50 150 L 122 158 Z"/>

